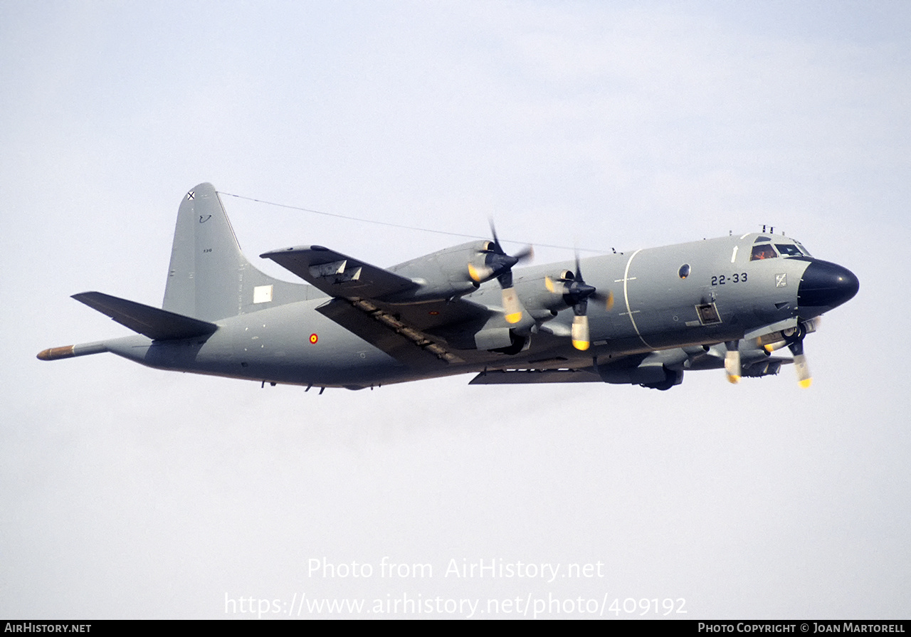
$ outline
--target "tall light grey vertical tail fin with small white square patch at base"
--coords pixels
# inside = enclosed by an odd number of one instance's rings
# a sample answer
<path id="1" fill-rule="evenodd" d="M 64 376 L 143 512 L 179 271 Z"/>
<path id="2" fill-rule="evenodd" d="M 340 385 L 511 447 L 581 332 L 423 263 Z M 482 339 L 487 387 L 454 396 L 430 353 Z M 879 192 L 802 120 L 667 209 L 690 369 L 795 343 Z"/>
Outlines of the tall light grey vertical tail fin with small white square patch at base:
<path id="1" fill-rule="evenodd" d="M 257 270 L 241 253 L 218 193 L 200 183 L 180 203 L 161 307 L 200 321 L 217 321 L 296 301 L 299 293 Z M 286 298 L 274 294 L 281 289 Z"/>

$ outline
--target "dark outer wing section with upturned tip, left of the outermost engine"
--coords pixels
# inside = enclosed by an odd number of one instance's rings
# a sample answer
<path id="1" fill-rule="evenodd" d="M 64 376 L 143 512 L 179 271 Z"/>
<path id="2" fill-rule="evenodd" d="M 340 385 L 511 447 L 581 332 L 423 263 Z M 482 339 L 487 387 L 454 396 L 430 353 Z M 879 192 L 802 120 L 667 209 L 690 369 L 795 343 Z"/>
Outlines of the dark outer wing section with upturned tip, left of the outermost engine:
<path id="1" fill-rule="evenodd" d="M 275 250 L 260 256 L 334 297 L 382 300 L 418 287 L 411 279 L 320 245 Z"/>

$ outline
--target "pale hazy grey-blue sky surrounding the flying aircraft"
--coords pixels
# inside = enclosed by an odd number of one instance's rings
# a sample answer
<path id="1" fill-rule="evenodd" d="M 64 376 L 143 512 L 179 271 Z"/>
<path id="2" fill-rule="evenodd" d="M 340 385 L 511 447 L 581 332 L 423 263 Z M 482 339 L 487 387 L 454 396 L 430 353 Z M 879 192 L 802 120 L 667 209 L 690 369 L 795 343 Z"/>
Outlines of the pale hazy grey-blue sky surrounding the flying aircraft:
<path id="1" fill-rule="evenodd" d="M 906 618 L 909 18 L 903 2 L 0 4 L 0 616 L 249 616 L 226 599 L 304 594 Z M 37 361 L 128 334 L 72 293 L 160 303 L 200 181 L 601 250 L 769 223 L 861 289 L 807 339 L 809 390 L 787 367 L 669 392 L 465 376 L 317 396 L 110 354 Z M 388 265 L 459 242 L 225 204 L 254 262 L 320 243 Z M 384 557 L 433 575 L 383 578 Z M 450 560 L 603 566 L 457 579 Z"/>

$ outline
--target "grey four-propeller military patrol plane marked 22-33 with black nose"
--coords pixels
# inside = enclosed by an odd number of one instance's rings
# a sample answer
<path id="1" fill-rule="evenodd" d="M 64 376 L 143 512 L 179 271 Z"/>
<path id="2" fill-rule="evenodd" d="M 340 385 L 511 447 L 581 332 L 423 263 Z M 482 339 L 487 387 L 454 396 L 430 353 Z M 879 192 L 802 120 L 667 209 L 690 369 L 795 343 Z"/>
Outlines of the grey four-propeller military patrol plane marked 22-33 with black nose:
<path id="1" fill-rule="evenodd" d="M 203 183 L 180 203 L 160 309 L 73 295 L 137 334 L 38 358 L 110 352 L 321 394 L 465 373 L 475 385 L 665 390 L 688 370 L 724 369 L 737 382 L 790 363 L 808 386 L 804 337 L 859 288 L 852 272 L 771 231 L 514 272 L 530 253 L 507 254 L 491 226 L 488 241 L 385 269 L 319 245 L 262 254 L 306 282 L 288 283 L 247 261 Z M 792 356 L 773 354 L 785 346 Z"/>

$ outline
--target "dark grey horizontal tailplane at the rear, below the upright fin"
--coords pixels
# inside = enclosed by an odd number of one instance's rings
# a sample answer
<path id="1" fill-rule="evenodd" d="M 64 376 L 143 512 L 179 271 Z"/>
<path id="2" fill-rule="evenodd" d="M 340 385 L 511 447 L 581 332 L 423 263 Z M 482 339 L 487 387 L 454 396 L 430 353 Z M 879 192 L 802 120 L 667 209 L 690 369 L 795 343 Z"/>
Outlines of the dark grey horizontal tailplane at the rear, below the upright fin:
<path id="1" fill-rule="evenodd" d="M 73 294 L 73 298 L 155 341 L 208 335 L 219 328 L 213 323 L 159 310 L 157 307 L 120 299 L 110 294 L 84 292 Z"/>

